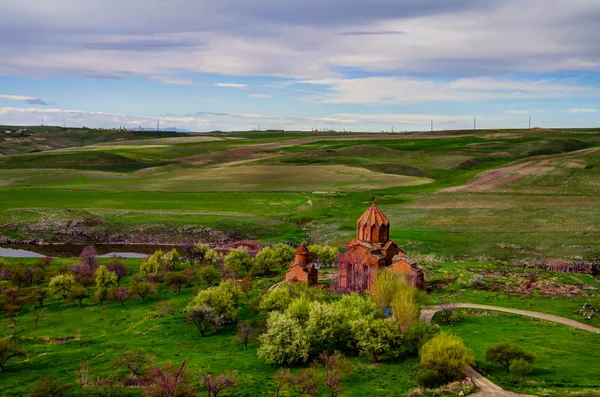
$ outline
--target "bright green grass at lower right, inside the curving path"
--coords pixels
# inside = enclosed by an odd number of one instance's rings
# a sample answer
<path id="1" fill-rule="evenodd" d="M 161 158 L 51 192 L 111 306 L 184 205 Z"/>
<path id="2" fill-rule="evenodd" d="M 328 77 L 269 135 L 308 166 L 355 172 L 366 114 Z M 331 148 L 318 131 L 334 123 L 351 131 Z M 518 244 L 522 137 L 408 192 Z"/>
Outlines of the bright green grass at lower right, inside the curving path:
<path id="1" fill-rule="evenodd" d="M 507 390 L 548 396 L 594 396 L 600 392 L 597 334 L 497 313 L 461 315 L 449 329 L 473 350 L 481 373 Z M 500 342 L 515 343 L 535 355 L 533 371 L 524 384 L 513 383 L 503 367 L 485 361 L 486 348 Z"/>

